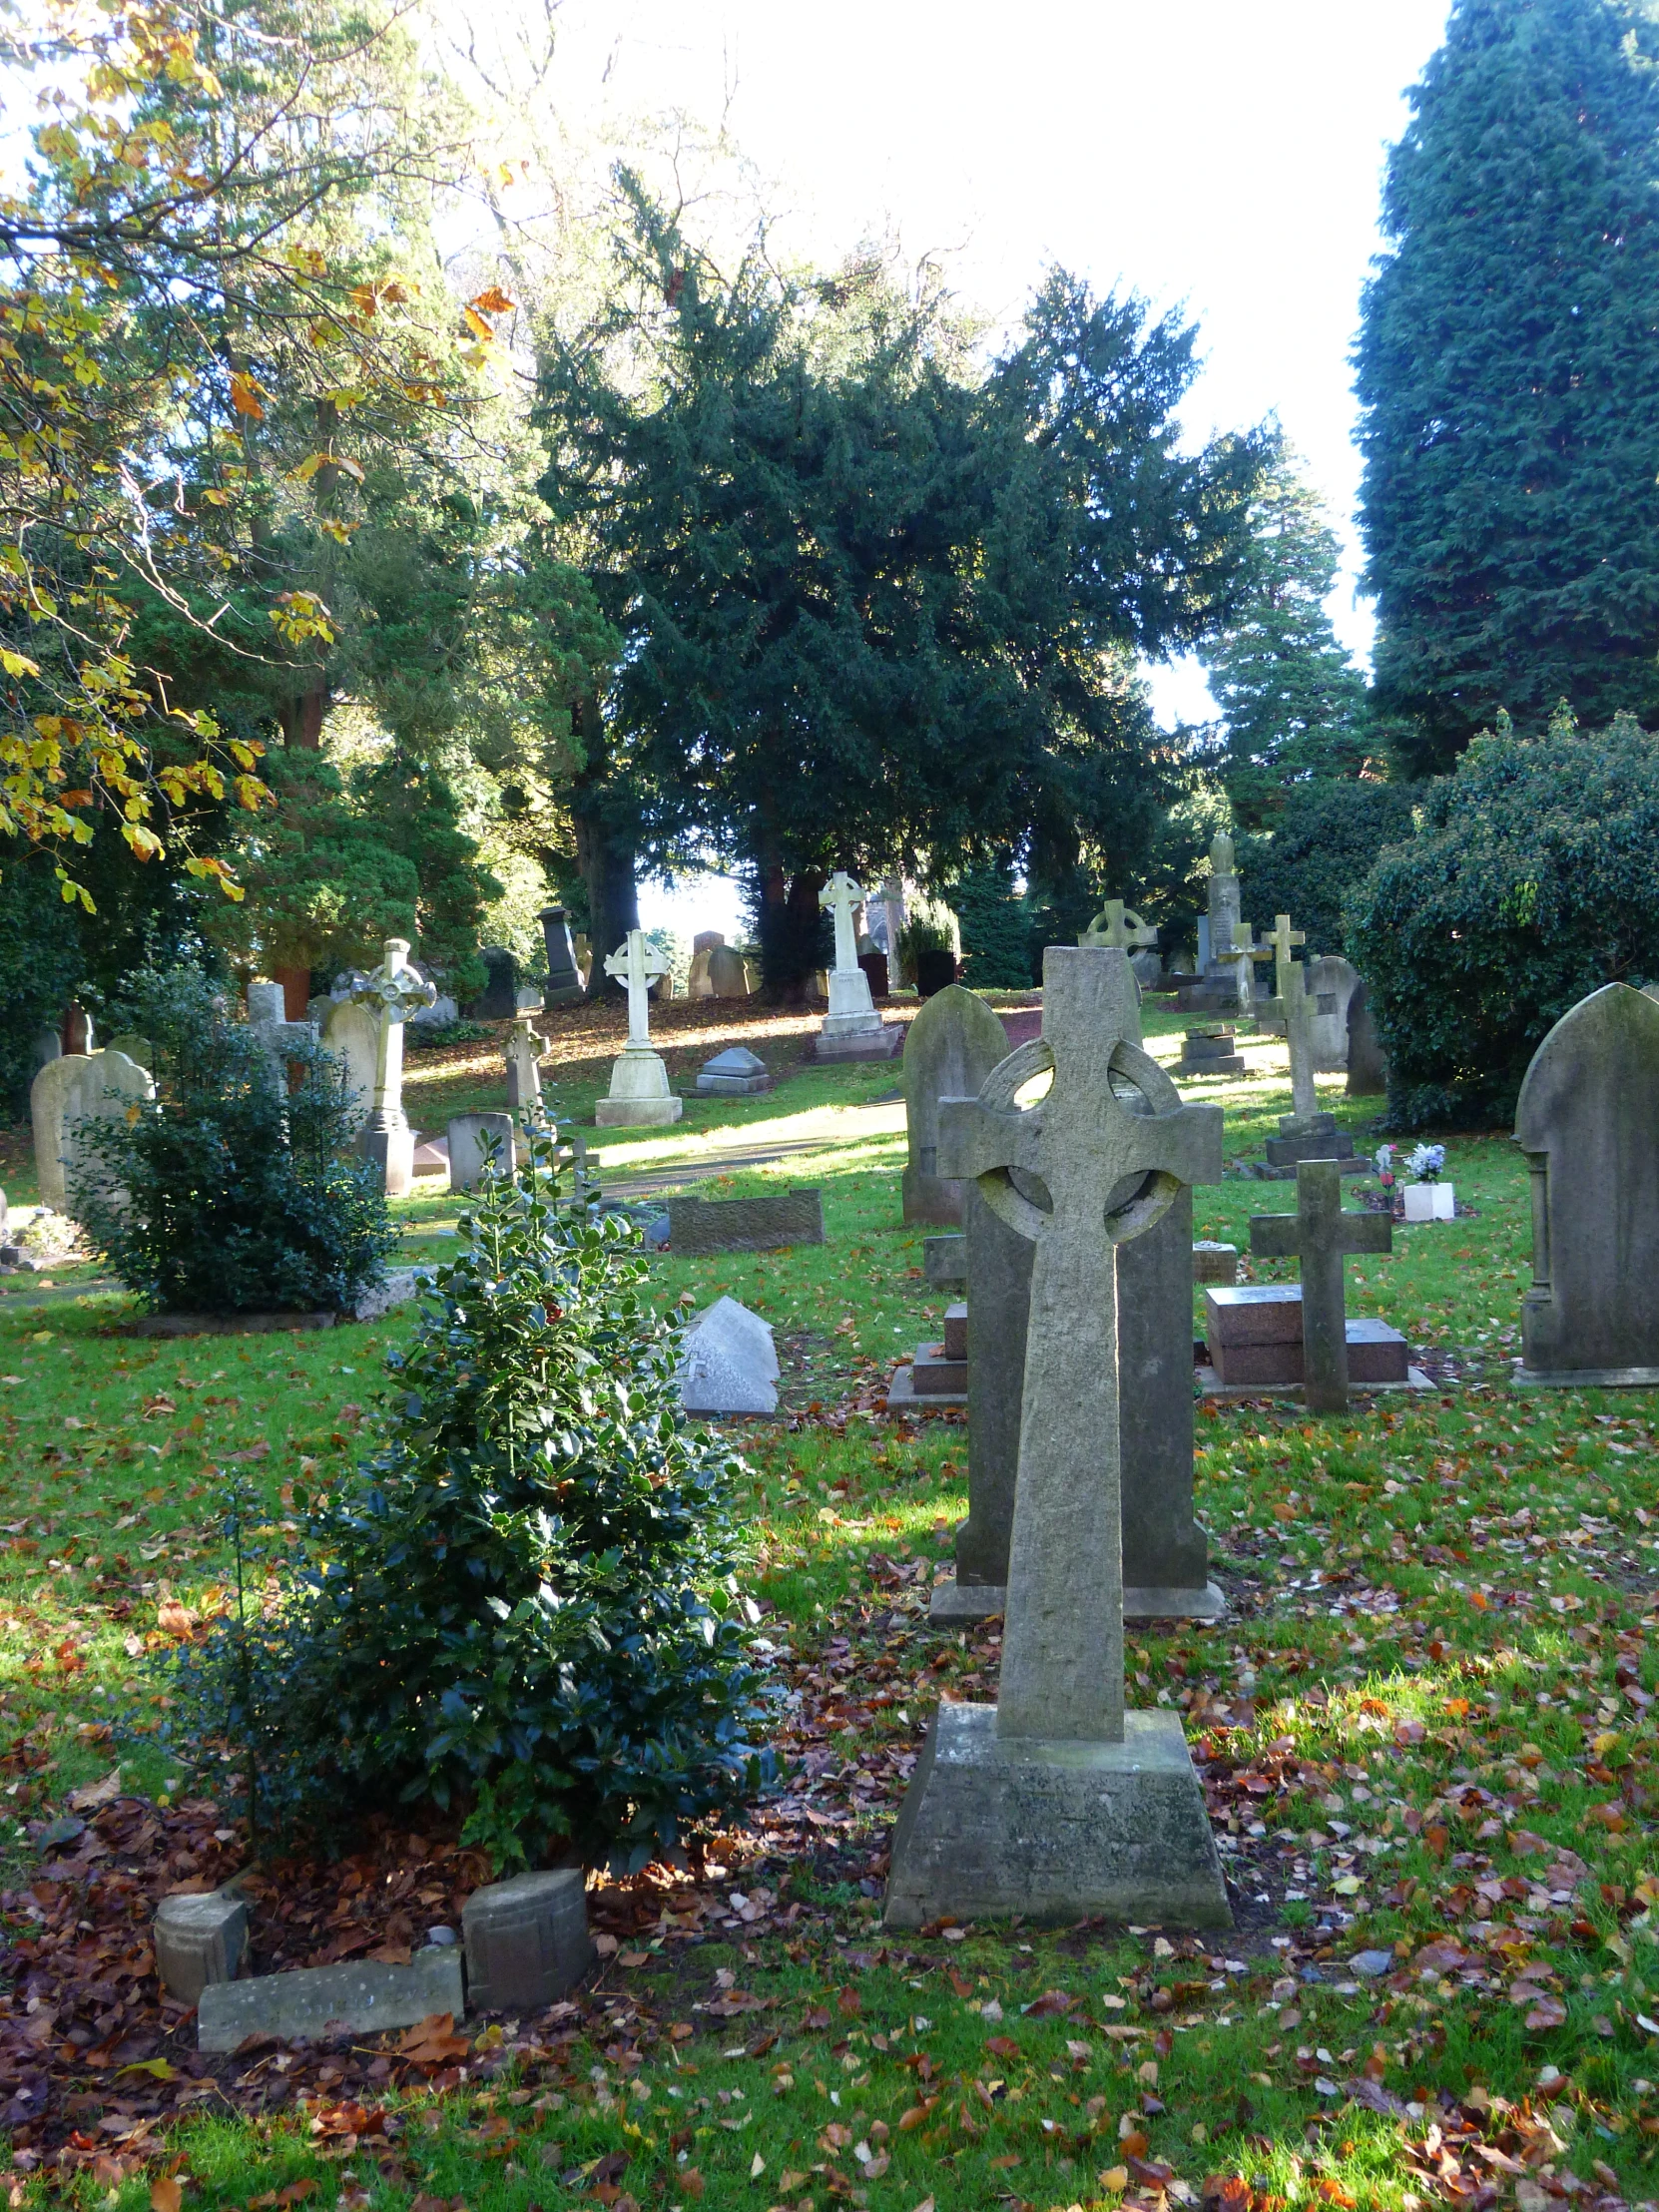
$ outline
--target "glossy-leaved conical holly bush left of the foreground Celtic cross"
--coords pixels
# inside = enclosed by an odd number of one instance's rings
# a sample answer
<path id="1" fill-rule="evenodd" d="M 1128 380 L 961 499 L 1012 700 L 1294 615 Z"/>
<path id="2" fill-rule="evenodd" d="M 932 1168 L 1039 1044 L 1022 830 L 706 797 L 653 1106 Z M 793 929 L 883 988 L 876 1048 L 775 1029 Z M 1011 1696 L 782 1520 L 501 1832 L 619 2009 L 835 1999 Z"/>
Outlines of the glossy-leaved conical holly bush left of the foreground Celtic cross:
<path id="1" fill-rule="evenodd" d="M 175 1679 L 175 1732 L 230 1736 L 239 1772 L 248 1714 L 290 1818 L 436 1801 L 498 1867 L 633 1869 L 770 1772 L 732 1584 L 743 1462 L 686 1427 L 641 1234 L 560 1199 L 549 1137 L 460 1228 L 387 1356 L 385 1442 L 312 1509 L 314 1564 L 261 1630 L 270 1688 L 223 1624 Z"/>

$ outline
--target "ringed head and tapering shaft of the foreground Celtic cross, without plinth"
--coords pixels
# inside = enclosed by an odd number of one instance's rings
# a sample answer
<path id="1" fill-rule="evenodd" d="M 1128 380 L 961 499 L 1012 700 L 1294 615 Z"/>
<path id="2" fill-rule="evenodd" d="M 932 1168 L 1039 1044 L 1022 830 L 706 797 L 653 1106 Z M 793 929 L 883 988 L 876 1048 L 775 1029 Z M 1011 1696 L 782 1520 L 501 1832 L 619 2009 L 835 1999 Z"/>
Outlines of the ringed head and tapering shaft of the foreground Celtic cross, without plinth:
<path id="1" fill-rule="evenodd" d="M 1124 951 L 1051 945 L 1042 1037 L 940 1099 L 938 1170 L 1035 1243 L 998 1736 L 1124 1741 L 1117 1261 L 1181 1183 L 1221 1179 L 1221 1108 L 1183 1106 L 1137 1037 Z M 1015 1095 L 1053 1071 L 1046 1095 Z M 1024 1190 L 1035 1177 L 1051 1210 Z"/>

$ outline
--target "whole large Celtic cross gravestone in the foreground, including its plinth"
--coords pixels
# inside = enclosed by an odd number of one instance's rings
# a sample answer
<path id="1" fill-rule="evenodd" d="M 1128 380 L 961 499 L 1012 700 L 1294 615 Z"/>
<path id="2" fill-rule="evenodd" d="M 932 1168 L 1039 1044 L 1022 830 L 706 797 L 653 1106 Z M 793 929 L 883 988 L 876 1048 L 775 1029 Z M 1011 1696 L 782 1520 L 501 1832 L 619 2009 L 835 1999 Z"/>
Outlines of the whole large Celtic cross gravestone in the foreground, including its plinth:
<path id="1" fill-rule="evenodd" d="M 1181 1723 L 1124 1710 L 1115 1245 L 1221 1179 L 1221 1113 L 1146 1113 L 1121 951 L 1051 947 L 1042 1037 L 940 1113 L 940 1168 L 1033 1243 L 998 1703 L 940 1705 L 905 1796 L 887 1918 L 1225 1924 Z M 1051 1075 L 1035 1104 L 1020 1093 Z M 1046 1208 L 1040 1197 L 1046 1197 Z"/>

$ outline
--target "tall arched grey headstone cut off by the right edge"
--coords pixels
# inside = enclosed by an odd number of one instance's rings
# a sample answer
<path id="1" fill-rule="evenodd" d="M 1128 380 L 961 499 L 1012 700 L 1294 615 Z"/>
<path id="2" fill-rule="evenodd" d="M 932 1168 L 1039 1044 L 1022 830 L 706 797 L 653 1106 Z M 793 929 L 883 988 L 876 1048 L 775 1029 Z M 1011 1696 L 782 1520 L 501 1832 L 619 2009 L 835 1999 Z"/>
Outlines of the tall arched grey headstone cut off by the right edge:
<path id="1" fill-rule="evenodd" d="M 1533 1183 L 1522 1383 L 1659 1383 L 1659 1004 L 1579 1000 L 1533 1053 L 1515 1144 Z"/>

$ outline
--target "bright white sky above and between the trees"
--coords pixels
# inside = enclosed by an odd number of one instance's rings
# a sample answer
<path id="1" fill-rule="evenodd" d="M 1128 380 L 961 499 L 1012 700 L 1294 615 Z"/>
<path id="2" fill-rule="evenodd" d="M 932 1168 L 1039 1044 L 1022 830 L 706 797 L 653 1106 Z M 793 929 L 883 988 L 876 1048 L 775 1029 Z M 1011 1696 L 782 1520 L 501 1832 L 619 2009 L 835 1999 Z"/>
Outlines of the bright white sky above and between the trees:
<path id="1" fill-rule="evenodd" d="M 1447 0 L 566 0 L 555 97 L 717 122 L 772 179 L 785 243 L 838 259 L 894 230 L 964 301 L 1018 319 L 1060 261 L 1201 327 L 1197 440 L 1279 416 L 1352 540 L 1347 356 L 1402 93 Z M 1349 577 L 1332 615 L 1365 653 Z M 1161 719 L 1206 714 L 1192 668 Z M 648 927 L 726 927 L 726 887 L 641 898 Z"/>

